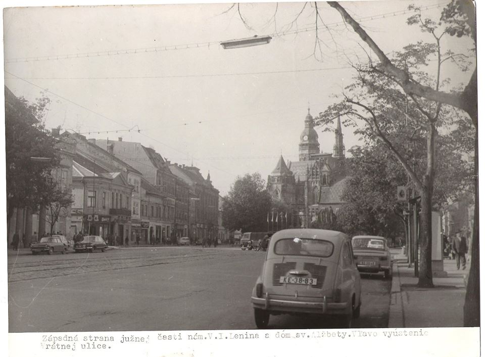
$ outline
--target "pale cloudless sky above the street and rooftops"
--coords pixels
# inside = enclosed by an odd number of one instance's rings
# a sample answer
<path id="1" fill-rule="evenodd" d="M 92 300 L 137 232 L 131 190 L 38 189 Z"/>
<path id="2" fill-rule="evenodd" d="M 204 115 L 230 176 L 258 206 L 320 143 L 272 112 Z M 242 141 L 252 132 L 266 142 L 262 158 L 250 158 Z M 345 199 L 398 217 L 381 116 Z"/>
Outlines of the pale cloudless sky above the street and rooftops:
<path id="1" fill-rule="evenodd" d="M 431 40 L 406 25 L 408 5 L 439 18 L 446 3 L 344 7 L 391 53 Z M 153 147 L 171 162 L 210 172 L 225 195 L 237 175 L 259 172 L 266 179 L 280 155 L 298 160 L 308 108 L 317 116 L 338 101 L 355 74 L 349 60 L 366 61 L 367 48 L 325 3 L 319 10 L 328 29 L 320 27 L 322 56 L 315 58 L 315 9 L 302 11 L 303 5 L 280 3 L 274 22 L 274 3 L 241 4 L 250 28 L 231 4 L 6 9 L 5 84 L 29 101 L 42 93 L 51 99 L 47 128 Z M 242 49 L 219 44 L 254 35 L 272 39 Z M 456 38 L 444 43 L 456 52 L 470 46 Z M 448 74 L 452 85 L 470 77 L 445 67 Z M 320 149 L 332 152 L 334 135 L 322 130 Z M 353 128 L 343 132 L 347 149 L 361 144 Z"/>

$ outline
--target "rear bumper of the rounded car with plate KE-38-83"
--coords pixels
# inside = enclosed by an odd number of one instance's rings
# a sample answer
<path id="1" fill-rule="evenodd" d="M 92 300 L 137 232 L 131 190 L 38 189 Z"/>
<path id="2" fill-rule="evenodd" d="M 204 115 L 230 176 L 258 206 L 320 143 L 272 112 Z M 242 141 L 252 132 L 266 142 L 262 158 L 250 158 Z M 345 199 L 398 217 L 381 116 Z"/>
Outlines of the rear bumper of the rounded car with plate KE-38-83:
<path id="1" fill-rule="evenodd" d="M 295 301 L 266 297 L 251 297 L 253 307 L 281 313 L 310 313 L 325 315 L 346 315 L 349 302 L 329 302 L 326 297 L 320 301 Z"/>

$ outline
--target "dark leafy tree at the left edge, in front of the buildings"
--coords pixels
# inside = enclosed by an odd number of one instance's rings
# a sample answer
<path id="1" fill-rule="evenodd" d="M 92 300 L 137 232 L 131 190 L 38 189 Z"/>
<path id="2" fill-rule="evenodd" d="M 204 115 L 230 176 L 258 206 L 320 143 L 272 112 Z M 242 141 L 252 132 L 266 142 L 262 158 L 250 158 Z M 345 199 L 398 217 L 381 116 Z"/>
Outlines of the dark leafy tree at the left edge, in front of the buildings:
<path id="1" fill-rule="evenodd" d="M 55 149 L 56 139 L 45 129 L 42 119 L 49 99 L 42 97 L 28 103 L 16 98 L 5 87 L 5 140 L 7 178 L 7 219 L 15 208 L 30 207 L 52 202 L 56 184 L 52 170 L 60 158 Z M 32 158 L 51 158 L 33 161 Z"/>

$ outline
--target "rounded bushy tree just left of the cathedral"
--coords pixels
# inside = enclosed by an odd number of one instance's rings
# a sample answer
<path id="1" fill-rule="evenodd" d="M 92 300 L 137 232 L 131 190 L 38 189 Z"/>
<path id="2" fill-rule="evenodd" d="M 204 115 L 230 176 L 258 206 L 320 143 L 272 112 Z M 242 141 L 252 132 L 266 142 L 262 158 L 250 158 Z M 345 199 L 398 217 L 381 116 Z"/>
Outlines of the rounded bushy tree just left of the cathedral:
<path id="1" fill-rule="evenodd" d="M 238 176 L 222 204 L 222 224 L 230 230 L 263 232 L 271 197 L 259 173 Z"/>

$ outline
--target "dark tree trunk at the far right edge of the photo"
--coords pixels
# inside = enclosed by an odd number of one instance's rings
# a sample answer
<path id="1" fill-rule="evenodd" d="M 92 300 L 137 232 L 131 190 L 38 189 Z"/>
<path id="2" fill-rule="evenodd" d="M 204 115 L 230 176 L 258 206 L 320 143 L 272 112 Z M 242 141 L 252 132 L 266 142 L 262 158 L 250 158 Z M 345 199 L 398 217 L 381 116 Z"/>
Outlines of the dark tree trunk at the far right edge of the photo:
<path id="1" fill-rule="evenodd" d="M 476 128 L 476 127 L 475 127 Z M 465 304 L 463 306 L 463 326 L 480 326 L 480 224 L 478 214 L 478 130 L 475 130 L 474 159 L 475 209 L 473 212 L 473 234 L 471 236 L 471 263 L 466 286 Z"/>

